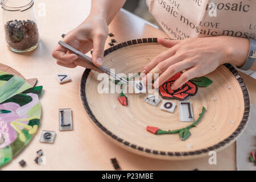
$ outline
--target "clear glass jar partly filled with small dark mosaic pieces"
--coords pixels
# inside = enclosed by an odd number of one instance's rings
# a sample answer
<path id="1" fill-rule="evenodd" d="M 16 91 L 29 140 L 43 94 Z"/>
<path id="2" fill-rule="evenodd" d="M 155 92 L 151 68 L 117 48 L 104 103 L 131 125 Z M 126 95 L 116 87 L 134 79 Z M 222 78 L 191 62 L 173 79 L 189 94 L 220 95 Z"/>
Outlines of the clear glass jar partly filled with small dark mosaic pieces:
<path id="1" fill-rule="evenodd" d="M 34 0 L 1 0 L 6 44 L 14 52 L 32 51 L 38 46 Z"/>

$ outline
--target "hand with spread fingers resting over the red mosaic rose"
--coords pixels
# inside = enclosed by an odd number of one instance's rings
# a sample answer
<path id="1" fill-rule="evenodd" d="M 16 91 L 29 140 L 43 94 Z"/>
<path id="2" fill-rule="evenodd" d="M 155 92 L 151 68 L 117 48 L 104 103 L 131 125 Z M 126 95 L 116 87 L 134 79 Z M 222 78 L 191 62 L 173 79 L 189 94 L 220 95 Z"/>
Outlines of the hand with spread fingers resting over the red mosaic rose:
<path id="1" fill-rule="evenodd" d="M 158 42 L 170 49 L 148 63 L 142 70 L 142 75 L 159 73 L 160 76 L 154 82 L 154 87 L 158 88 L 177 72 L 187 70 L 174 82 L 172 90 L 178 89 L 192 78 L 207 75 L 221 64 L 242 66 L 250 49 L 248 39 L 231 36 L 185 40 L 159 38 Z"/>

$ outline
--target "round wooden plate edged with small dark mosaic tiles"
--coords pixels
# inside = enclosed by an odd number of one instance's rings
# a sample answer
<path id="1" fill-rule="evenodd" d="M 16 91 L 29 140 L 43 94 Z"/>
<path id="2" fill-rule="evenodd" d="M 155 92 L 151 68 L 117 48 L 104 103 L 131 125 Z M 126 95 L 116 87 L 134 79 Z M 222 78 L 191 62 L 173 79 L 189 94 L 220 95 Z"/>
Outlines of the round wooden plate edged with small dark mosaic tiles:
<path id="1" fill-rule="evenodd" d="M 116 73 L 137 73 L 156 55 L 167 48 L 156 38 L 137 39 L 106 49 L 104 65 Z M 149 59 L 148 59 L 149 58 Z M 151 158 L 191 159 L 219 151 L 233 143 L 245 129 L 250 101 L 245 82 L 230 64 L 221 65 L 207 75 L 213 84 L 198 88 L 192 102 L 195 120 L 202 107 L 207 111 L 200 123 L 193 127 L 191 136 L 181 141 L 178 134 L 154 135 L 146 126 L 175 130 L 190 125 L 180 122 L 179 107 L 175 112 L 160 110 L 144 101 L 147 94 L 126 94 L 128 106 L 118 102 L 118 93 L 97 92 L 97 72 L 86 69 L 81 80 L 81 99 L 92 122 L 119 146 Z M 216 98 L 214 101 L 213 98 Z M 163 100 L 163 99 L 162 99 Z M 178 104 L 177 100 L 171 100 Z"/>

